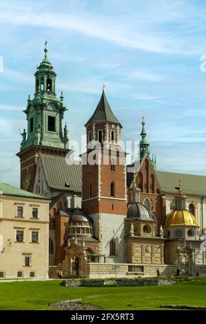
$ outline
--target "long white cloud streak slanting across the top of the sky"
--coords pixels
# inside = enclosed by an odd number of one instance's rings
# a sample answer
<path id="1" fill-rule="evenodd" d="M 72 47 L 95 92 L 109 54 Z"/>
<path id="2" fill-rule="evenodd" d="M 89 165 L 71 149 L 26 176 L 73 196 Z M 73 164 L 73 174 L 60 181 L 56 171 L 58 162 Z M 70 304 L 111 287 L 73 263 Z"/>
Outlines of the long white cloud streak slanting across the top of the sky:
<path id="1" fill-rule="evenodd" d="M 53 12 L 34 11 L 18 7 L 16 9 L 0 9 L 1 24 L 10 23 L 17 26 L 36 26 L 60 28 L 67 31 L 80 32 L 88 37 L 97 37 L 111 41 L 127 48 L 136 48 L 150 52 L 165 54 L 194 53 L 194 48 L 185 50 L 185 43 L 171 32 L 153 31 L 150 25 L 151 16 L 147 17 L 148 25 L 138 21 L 135 15 L 113 17 L 96 12 L 80 12 L 76 14 L 57 14 Z M 121 21 L 122 19 L 122 21 Z M 127 23 L 124 23 L 127 19 Z M 172 17 L 170 17 L 172 19 Z M 173 18 L 174 19 L 174 18 Z"/>

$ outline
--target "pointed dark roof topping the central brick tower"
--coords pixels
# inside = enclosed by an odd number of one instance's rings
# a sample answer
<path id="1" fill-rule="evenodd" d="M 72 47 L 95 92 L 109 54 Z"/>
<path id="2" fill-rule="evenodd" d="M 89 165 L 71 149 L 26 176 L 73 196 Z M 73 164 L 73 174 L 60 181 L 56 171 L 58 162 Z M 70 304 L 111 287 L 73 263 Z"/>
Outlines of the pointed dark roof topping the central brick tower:
<path id="1" fill-rule="evenodd" d="M 116 123 L 121 126 L 121 123 L 118 121 L 118 119 L 116 119 L 112 109 L 110 108 L 104 91 L 101 95 L 101 99 L 96 107 L 96 110 L 94 111 L 94 114 L 92 114 L 92 117 L 87 121 L 85 126 L 98 121 L 110 121 L 110 123 Z"/>

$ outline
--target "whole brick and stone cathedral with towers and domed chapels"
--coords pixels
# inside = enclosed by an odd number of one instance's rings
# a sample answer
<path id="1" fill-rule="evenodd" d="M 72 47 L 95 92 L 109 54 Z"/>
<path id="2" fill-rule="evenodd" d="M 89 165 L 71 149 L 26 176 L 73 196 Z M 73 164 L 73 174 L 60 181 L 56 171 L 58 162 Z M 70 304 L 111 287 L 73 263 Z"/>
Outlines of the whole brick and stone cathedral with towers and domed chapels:
<path id="1" fill-rule="evenodd" d="M 17 156 L 21 188 L 50 199 L 49 275 L 110 278 L 206 274 L 206 176 L 158 171 L 141 121 L 138 168 L 127 165 L 123 126 L 105 90 L 85 123 L 81 162 L 70 153 L 67 108 L 45 48 Z"/>

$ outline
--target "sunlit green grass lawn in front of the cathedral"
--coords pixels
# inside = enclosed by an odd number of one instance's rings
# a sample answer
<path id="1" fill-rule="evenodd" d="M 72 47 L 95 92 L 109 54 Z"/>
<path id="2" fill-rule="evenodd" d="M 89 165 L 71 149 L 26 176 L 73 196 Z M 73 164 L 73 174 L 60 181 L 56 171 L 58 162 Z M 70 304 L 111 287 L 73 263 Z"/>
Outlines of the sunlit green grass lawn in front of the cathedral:
<path id="1" fill-rule="evenodd" d="M 159 305 L 206 306 L 206 281 L 172 286 L 63 287 L 61 281 L 0 283 L 0 310 L 48 310 L 48 303 L 82 298 L 102 310 L 158 310 Z"/>

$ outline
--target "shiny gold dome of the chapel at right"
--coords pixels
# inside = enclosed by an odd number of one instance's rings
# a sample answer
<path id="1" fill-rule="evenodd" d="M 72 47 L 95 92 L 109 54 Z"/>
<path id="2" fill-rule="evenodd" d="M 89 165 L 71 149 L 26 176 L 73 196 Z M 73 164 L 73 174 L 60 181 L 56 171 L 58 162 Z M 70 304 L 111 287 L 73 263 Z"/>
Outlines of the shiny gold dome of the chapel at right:
<path id="1" fill-rule="evenodd" d="M 174 225 L 198 226 L 195 217 L 188 210 L 174 210 L 169 214 L 165 226 Z"/>

